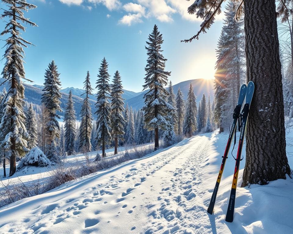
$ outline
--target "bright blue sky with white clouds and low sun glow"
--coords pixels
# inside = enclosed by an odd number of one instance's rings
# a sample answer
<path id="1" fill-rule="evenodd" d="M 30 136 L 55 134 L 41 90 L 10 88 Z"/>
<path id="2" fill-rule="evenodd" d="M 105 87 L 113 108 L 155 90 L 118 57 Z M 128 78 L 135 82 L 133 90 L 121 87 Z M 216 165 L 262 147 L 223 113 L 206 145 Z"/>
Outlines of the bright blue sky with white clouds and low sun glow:
<path id="1" fill-rule="evenodd" d="M 44 82 L 45 69 L 54 59 L 63 88 L 82 88 L 87 70 L 94 86 L 100 62 L 105 57 L 111 77 L 119 70 L 125 89 L 141 91 L 147 59 L 145 42 L 154 24 L 163 34 L 163 55 L 168 59 L 166 70 L 171 71 L 169 79 L 174 84 L 213 78 L 222 15 L 198 41 L 180 43 L 180 40 L 194 35 L 201 23 L 186 12 L 192 1 L 27 1 L 38 6 L 25 13 L 38 27 L 27 27 L 23 34 L 26 40 L 36 45 L 25 48 L 26 77 L 35 84 Z M 1 22 L 0 27 L 3 26 Z M 4 50 L 1 49 L 2 54 Z"/>

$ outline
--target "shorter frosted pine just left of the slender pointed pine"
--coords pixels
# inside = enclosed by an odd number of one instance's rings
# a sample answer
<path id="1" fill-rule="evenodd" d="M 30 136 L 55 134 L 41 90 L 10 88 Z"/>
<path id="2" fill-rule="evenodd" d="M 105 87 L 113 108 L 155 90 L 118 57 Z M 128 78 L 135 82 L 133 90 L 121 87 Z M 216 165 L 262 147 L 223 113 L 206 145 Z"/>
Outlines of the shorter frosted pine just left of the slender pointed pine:
<path id="1" fill-rule="evenodd" d="M 76 117 L 75 117 L 75 110 L 74 110 L 74 102 L 72 100 L 72 92 L 69 91 L 68 100 L 65 107 L 64 113 L 64 144 L 65 144 L 65 151 L 68 155 L 74 154 L 75 147 L 74 143 L 76 140 Z"/>

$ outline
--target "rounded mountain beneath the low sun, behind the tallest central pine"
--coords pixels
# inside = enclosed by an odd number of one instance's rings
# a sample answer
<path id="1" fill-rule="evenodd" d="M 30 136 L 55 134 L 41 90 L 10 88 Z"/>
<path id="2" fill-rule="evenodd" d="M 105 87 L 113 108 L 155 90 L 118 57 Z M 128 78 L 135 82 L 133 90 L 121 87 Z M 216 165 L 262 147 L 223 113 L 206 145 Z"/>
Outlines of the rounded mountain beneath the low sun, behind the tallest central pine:
<path id="1" fill-rule="evenodd" d="M 186 81 L 173 85 L 174 93 L 176 94 L 178 91 L 178 88 L 180 87 L 182 93 L 184 94 L 184 99 L 186 99 L 190 82 L 192 83 L 192 86 L 194 88 L 194 94 L 197 96 L 197 100 L 196 100 L 197 103 L 198 101 L 201 100 L 202 95 L 204 93 L 207 97 L 208 97 L 208 94 L 211 95 L 211 101 L 214 99 L 214 92 L 213 92 L 214 81 L 213 80 L 205 80 L 205 79 L 186 80 Z M 147 90 L 141 92 L 141 94 L 139 94 L 135 98 L 125 100 L 125 105 L 126 103 L 128 103 L 129 107 L 132 106 L 133 109 L 136 109 L 136 110 L 141 109 L 144 105 L 143 95 L 146 92 Z"/>

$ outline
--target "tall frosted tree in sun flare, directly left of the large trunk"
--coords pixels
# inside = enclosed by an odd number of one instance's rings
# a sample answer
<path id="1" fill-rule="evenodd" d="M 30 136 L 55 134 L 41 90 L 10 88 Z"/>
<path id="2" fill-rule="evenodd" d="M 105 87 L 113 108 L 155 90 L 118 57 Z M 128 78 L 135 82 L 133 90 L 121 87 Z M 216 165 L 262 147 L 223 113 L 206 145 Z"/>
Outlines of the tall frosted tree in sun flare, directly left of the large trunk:
<path id="1" fill-rule="evenodd" d="M 231 113 L 237 104 L 241 83 L 245 82 L 244 21 L 234 20 L 235 5 L 229 1 L 224 26 L 218 41 L 215 92 L 215 120 L 222 130 L 229 130 Z M 225 125 L 226 123 L 226 125 Z M 225 126 L 224 126 L 225 125 Z"/>

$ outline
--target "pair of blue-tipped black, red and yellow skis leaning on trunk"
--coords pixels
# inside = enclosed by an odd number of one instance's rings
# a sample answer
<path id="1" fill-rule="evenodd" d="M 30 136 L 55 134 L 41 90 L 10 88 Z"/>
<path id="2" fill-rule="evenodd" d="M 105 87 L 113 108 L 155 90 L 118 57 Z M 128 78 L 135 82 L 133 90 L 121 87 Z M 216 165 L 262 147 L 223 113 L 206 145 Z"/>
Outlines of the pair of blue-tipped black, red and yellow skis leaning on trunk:
<path id="1" fill-rule="evenodd" d="M 242 146 L 243 146 L 243 140 L 244 140 L 244 134 L 245 134 L 245 129 L 246 129 L 246 124 L 247 124 L 247 119 L 248 119 L 248 112 L 251 104 L 251 99 L 254 93 L 254 83 L 252 81 L 249 81 L 248 84 L 243 84 L 240 88 L 239 92 L 239 97 L 238 97 L 238 102 L 237 106 L 234 109 L 233 113 L 233 123 L 232 127 L 230 130 L 228 142 L 226 145 L 226 149 L 224 152 L 224 156 L 222 156 L 222 164 L 220 167 L 219 171 L 219 176 L 212 194 L 212 198 L 210 201 L 210 204 L 208 206 L 208 213 L 212 214 L 215 206 L 215 200 L 217 197 L 218 189 L 219 189 L 219 184 L 221 182 L 222 174 L 224 171 L 226 159 L 228 158 L 228 153 L 229 149 L 231 146 L 231 142 L 233 140 L 233 134 L 236 134 L 236 129 L 237 129 L 237 122 L 240 130 L 240 139 L 239 139 L 239 144 L 238 144 L 238 150 L 237 150 L 237 157 L 235 158 L 236 163 L 235 163 L 235 170 L 234 170 L 234 176 L 233 176 L 233 181 L 232 181 L 232 189 L 231 189 L 231 194 L 230 194 L 230 199 L 229 199 L 229 204 L 228 204 L 228 210 L 226 214 L 226 221 L 227 222 L 233 222 L 233 215 L 234 215 L 234 206 L 235 206 L 235 197 L 236 197 L 236 187 L 237 187 L 237 179 L 238 179 L 238 172 L 239 172 L 239 165 L 241 159 L 241 151 L 242 151 Z M 241 111 L 241 106 L 244 102 L 245 98 L 245 104 L 244 107 Z M 236 135 L 235 135 L 236 137 Z"/>

